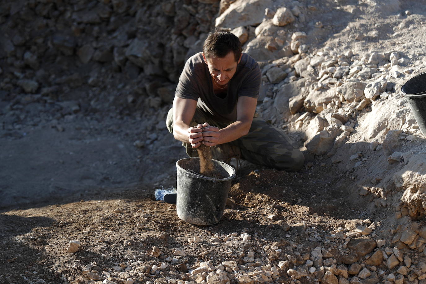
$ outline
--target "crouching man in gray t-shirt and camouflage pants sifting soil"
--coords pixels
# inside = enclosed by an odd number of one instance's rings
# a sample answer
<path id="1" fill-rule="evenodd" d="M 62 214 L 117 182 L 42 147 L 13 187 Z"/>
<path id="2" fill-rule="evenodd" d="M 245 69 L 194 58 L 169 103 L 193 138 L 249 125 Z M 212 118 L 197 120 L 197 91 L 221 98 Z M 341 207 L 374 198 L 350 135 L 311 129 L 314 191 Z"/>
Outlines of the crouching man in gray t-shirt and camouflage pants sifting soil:
<path id="1" fill-rule="evenodd" d="M 253 164 L 286 171 L 302 168 L 305 158 L 285 133 L 253 118 L 262 73 L 230 32 L 210 33 L 203 52 L 190 57 L 179 77 L 167 129 L 196 157 L 201 144 L 213 157 L 237 156 Z M 214 153 L 221 153 L 222 157 Z"/>

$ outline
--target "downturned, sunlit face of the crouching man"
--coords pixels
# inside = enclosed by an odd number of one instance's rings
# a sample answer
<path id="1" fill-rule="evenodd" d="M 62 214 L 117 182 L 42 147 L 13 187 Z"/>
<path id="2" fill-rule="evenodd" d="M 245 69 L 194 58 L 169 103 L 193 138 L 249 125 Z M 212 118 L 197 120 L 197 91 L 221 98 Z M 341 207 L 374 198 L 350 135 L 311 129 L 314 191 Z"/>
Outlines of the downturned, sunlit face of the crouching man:
<path id="1" fill-rule="evenodd" d="M 237 70 L 237 65 L 241 60 L 238 60 L 238 62 L 235 61 L 235 56 L 233 52 L 229 52 L 225 57 L 223 58 L 206 58 L 203 54 L 204 62 L 209 67 L 210 75 L 212 75 L 213 80 L 218 85 L 226 85 L 229 83 L 229 80 L 233 77 Z"/>

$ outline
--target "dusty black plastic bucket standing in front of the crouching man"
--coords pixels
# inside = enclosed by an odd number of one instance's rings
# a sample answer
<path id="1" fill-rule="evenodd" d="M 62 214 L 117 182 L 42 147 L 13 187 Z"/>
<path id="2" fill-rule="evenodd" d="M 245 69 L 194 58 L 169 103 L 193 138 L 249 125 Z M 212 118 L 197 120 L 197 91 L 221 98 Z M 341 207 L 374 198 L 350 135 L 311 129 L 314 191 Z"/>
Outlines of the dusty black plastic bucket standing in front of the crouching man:
<path id="1" fill-rule="evenodd" d="M 218 178 L 199 174 L 199 158 L 184 158 L 176 162 L 176 210 L 178 217 L 190 224 L 216 224 L 225 209 L 235 169 L 223 162 L 210 160 Z"/>

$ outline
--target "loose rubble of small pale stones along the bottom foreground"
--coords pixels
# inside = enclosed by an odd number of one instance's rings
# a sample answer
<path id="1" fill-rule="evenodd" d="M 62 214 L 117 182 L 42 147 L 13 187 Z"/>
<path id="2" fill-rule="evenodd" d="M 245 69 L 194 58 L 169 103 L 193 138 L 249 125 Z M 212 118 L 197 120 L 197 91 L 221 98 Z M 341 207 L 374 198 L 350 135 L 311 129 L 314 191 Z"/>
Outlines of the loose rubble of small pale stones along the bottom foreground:
<path id="1" fill-rule="evenodd" d="M 379 231 L 380 222 L 371 223 L 368 219 L 349 221 L 345 228 L 339 227 L 328 233 L 306 223 L 282 224 L 282 229 L 285 238 L 276 239 L 261 232 L 251 235 L 246 230 L 228 235 L 217 233 L 200 237 L 194 234 L 184 247 L 170 250 L 153 246 L 146 253 L 150 261 L 133 259 L 113 263 L 109 261 L 111 255 L 108 254 L 104 255 L 103 260 L 71 268 L 92 280 L 98 280 L 94 283 L 99 284 L 121 281 L 132 284 L 134 279 L 157 283 L 150 279 L 160 277 L 165 278 L 167 283 L 191 284 L 305 281 L 402 284 L 406 281 L 426 281 L 423 280 L 426 278 L 423 252 L 426 229 L 419 228 L 417 223 L 412 223 L 409 228 L 398 227 L 391 240 L 377 239 L 375 231 Z M 299 241 L 294 241 L 296 238 Z M 124 242 L 125 247 L 133 245 L 132 241 Z M 190 251 L 197 247 L 206 250 L 199 256 L 192 255 Z M 207 250 L 210 247 L 219 254 L 211 254 Z M 170 255 L 166 251 L 170 251 Z M 195 262 L 190 265 L 194 259 Z M 107 263 L 110 264 L 105 265 Z"/>

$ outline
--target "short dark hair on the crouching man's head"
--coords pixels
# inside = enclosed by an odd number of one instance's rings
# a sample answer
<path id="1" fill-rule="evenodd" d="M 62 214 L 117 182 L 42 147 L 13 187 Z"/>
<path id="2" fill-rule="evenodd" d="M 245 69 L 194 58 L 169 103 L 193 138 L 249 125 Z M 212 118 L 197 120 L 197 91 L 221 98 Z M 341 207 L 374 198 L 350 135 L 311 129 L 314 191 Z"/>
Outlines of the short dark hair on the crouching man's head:
<path id="1" fill-rule="evenodd" d="M 204 40 L 203 53 L 206 58 L 223 58 L 233 52 L 235 62 L 241 56 L 241 43 L 235 34 L 230 32 L 211 32 Z"/>

